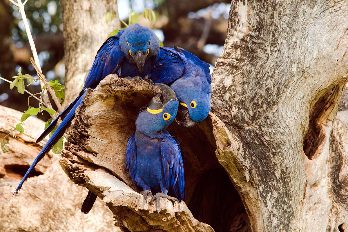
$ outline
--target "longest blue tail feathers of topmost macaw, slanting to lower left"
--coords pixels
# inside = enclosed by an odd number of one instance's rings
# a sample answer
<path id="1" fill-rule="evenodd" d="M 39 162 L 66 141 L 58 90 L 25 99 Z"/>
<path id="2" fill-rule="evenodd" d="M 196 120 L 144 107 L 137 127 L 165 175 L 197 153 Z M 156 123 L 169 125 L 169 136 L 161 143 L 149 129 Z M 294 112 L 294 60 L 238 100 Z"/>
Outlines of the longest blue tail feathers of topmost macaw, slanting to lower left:
<path id="1" fill-rule="evenodd" d="M 75 99 L 75 101 L 74 101 L 75 104 L 73 106 L 71 106 L 71 107 L 69 106 L 70 107 L 70 111 L 65 113 L 65 117 L 64 117 L 62 123 L 57 127 L 57 129 L 54 131 L 53 135 L 48 139 L 48 141 L 45 144 L 45 146 L 42 148 L 42 150 L 40 151 L 40 153 L 38 154 L 38 156 L 36 157 L 34 162 L 31 164 L 30 168 L 25 173 L 21 183 L 19 183 L 16 191 L 14 192 L 14 195 L 16 195 L 16 197 L 17 197 L 18 191 L 21 189 L 24 181 L 29 177 L 30 173 L 33 171 L 33 169 L 38 164 L 38 162 L 42 158 L 44 158 L 45 154 L 47 152 L 49 152 L 49 150 L 51 150 L 51 148 L 64 135 L 65 129 L 70 126 L 72 119 L 75 117 L 75 110 L 76 110 L 77 106 L 82 104 L 82 98 L 83 98 L 84 95 L 85 94 L 79 95 L 79 97 L 77 99 Z"/>

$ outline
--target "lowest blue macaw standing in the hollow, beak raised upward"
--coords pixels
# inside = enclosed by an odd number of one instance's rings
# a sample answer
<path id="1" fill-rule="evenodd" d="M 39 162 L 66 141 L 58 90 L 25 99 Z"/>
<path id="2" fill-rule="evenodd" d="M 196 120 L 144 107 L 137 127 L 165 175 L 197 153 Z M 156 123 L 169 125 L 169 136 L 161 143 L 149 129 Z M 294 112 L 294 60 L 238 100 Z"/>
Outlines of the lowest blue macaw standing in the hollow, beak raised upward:
<path id="1" fill-rule="evenodd" d="M 162 91 L 139 113 L 135 134 L 129 138 L 126 151 L 127 168 L 145 199 L 160 197 L 181 202 L 185 198 L 185 181 L 181 149 L 166 128 L 174 121 L 179 107 L 175 92 L 164 84 L 155 84 Z M 175 197 L 168 196 L 168 191 Z"/>

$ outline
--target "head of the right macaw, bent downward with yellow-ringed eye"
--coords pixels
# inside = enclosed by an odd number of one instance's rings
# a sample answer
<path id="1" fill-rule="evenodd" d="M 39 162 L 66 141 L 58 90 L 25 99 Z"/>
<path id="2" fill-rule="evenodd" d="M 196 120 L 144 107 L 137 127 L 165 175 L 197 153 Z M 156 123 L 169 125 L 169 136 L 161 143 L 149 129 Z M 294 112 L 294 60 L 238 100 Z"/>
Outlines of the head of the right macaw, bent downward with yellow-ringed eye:
<path id="1" fill-rule="evenodd" d="M 180 127 L 192 127 L 208 116 L 212 90 L 206 78 L 180 78 L 171 85 L 171 88 L 180 103 L 179 111 L 183 119 L 176 120 Z"/>

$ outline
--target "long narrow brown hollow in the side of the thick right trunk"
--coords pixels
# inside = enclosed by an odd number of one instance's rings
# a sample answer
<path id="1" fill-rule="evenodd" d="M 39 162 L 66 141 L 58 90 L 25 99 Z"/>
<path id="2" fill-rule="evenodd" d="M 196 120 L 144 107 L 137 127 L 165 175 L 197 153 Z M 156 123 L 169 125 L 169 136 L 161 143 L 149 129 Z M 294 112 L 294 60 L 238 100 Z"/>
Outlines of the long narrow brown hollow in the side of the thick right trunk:
<path id="1" fill-rule="evenodd" d="M 303 151 L 309 159 L 315 159 L 326 143 L 327 135 L 323 129 L 331 114 L 336 98 L 340 92 L 340 86 L 328 88 L 324 94 L 314 103 L 309 115 L 309 127 L 303 140 Z"/>

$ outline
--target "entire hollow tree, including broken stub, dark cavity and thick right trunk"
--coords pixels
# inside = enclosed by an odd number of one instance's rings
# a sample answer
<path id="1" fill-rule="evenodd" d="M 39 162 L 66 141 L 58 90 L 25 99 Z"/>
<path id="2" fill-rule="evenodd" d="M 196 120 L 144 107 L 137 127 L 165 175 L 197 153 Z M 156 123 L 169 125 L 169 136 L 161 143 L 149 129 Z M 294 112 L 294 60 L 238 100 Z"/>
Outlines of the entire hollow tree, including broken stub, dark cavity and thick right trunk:
<path id="1" fill-rule="evenodd" d="M 212 113 L 190 130 L 169 127 L 186 154 L 187 198 L 163 199 L 162 220 L 125 168 L 137 110 L 157 91 L 146 83 L 111 75 L 87 94 L 65 172 L 125 231 L 211 230 L 193 216 L 216 231 L 347 230 L 347 114 L 334 121 L 348 77 L 347 17 L 345 1 L 232 2 Z"/>

